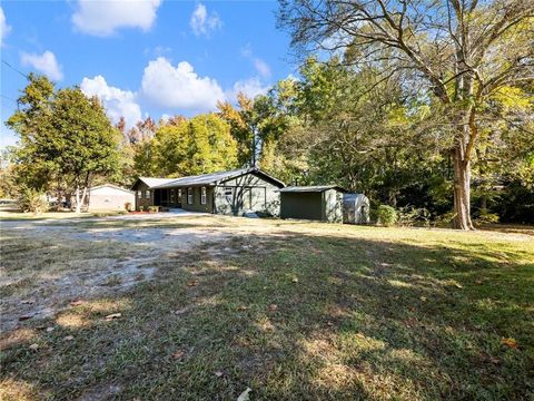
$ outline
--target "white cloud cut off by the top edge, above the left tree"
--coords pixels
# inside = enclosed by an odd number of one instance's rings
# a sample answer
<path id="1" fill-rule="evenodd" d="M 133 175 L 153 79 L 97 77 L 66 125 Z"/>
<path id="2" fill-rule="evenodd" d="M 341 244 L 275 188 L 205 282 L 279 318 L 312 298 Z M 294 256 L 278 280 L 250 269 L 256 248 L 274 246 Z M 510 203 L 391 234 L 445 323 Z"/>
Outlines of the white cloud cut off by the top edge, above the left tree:
<path id="1" fill-rule="evenodd" d="M 78 0 L 75 27 L 89 35 L 109 36 L 119 28 L 148 31 L 161 0 Z"/>

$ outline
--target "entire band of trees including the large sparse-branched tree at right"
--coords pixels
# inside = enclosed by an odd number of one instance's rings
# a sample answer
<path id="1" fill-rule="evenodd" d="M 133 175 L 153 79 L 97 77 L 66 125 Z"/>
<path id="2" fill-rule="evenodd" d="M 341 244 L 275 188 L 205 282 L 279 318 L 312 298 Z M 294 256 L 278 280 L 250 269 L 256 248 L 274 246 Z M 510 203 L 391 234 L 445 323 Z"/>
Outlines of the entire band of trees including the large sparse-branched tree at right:
<path id="1" fill-rule="evenodd" d="M 534 223 L 533 14 L 523 0 L 284 0 L 297 78 L 132 128 L 31 76 L 8 120 L 21 140 L 1 189 L 75 189 L 79 205 L 98 180 L 254 165 L 365 193 L 402 218 Z"/>

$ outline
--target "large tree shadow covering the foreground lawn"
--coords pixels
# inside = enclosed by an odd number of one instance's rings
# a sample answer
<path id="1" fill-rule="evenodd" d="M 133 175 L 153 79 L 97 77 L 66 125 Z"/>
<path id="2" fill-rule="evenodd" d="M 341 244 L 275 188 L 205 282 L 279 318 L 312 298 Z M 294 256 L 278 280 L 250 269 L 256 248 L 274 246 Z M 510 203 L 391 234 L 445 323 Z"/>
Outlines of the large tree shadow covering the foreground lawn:
<path id="1" fill-rule="evenodd" d="M 36 399 L 528 399 L 534 262 L 513 255 L 289 232 L 204 244 L 126 295 L 24 323 L 3 385 Z"/>

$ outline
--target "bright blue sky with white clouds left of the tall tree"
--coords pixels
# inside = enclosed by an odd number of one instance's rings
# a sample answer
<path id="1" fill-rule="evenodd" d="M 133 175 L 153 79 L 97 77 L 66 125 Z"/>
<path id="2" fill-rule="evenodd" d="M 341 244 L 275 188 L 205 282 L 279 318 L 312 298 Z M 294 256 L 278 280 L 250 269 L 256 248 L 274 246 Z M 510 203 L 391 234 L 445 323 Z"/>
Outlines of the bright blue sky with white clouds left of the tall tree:
<path id="1" fill-rule="evenodd" d="M 2 61 L 99 96 L 113 121 L 191 116 L 295 74 L 276 9 L 276 1 L 2 1 Z M 2 123 L 24 85 L 2 62 Z M 2 124 L 0 146 L 16 139 Z"/>

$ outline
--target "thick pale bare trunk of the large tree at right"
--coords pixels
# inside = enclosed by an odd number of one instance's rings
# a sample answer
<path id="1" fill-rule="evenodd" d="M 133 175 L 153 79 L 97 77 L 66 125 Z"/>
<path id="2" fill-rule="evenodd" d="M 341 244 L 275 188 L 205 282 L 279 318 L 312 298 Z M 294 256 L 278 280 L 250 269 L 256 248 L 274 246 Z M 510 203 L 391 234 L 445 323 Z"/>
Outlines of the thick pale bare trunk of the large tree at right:
<path id="1" fill-rule="evenodd" d="M 458 146 L 453 150 L 454 165 L 454 228 L 475 229 L 471 221 L 471 160 L 463 157 Z"/>

